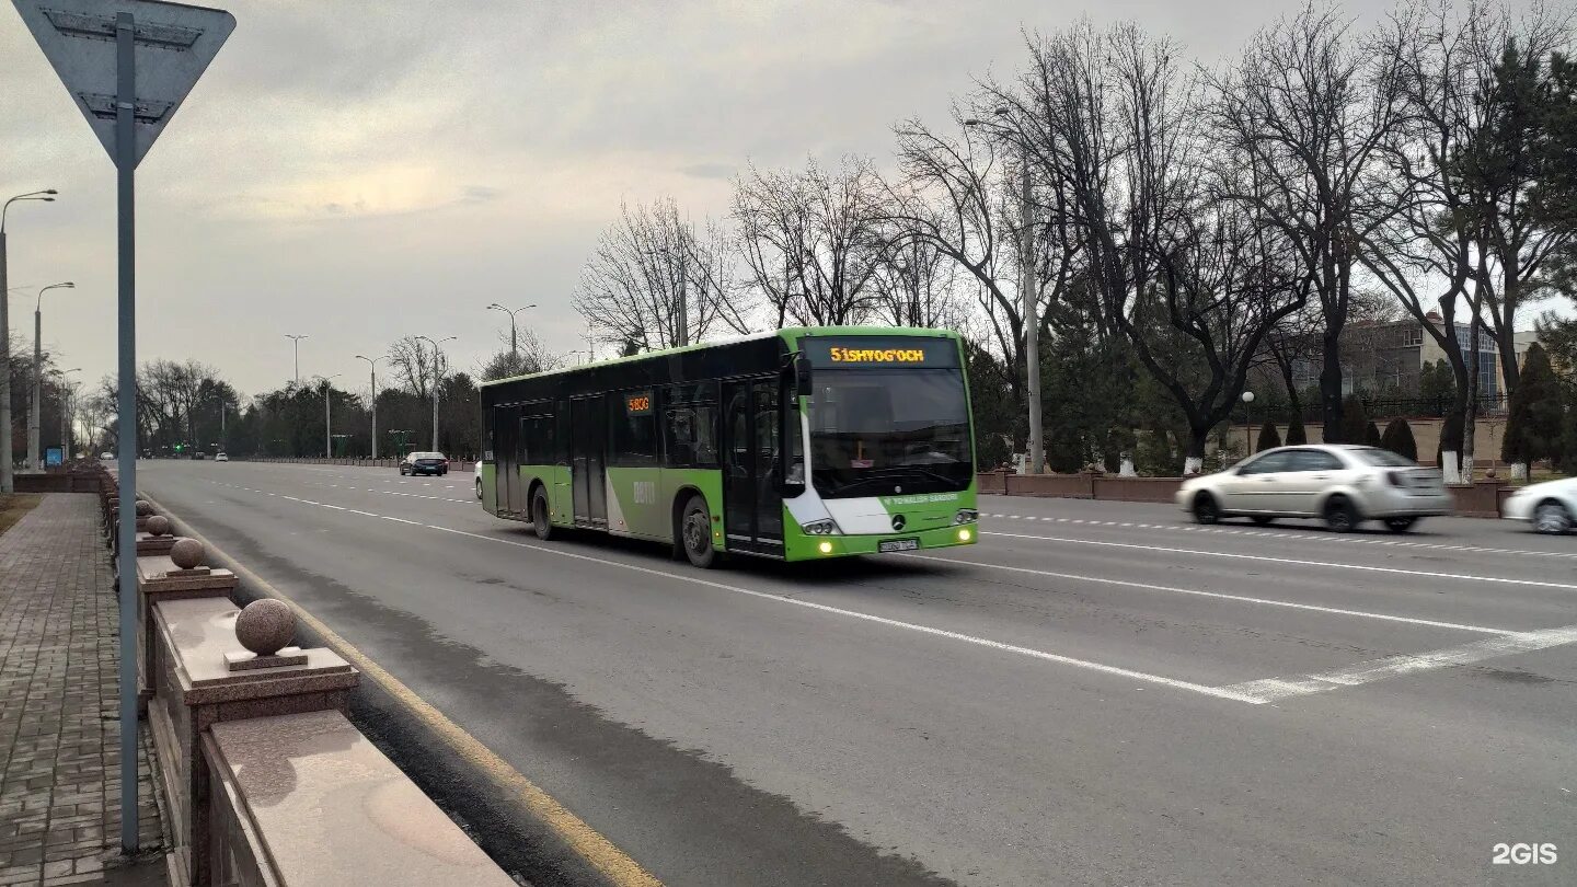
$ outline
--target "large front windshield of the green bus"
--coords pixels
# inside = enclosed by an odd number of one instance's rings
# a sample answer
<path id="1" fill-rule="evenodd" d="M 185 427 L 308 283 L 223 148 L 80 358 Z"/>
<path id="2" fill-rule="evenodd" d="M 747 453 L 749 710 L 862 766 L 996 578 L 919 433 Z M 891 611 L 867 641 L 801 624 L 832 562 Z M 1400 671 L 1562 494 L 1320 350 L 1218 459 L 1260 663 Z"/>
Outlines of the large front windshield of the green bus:
<path id="1" fill-rule="evenodd" d="M 973 472 L 957 368 L 815 371 L 811 477 L 822 497 L 954 492 Z"/>

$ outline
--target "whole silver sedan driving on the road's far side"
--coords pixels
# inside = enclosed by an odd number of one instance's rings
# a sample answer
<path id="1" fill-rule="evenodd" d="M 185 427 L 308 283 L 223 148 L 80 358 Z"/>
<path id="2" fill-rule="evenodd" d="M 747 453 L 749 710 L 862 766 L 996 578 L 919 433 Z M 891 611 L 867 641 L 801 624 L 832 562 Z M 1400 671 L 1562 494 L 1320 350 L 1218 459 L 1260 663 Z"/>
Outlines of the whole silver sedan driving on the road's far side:
<path id="1" fill-rule="evenodd" d="M 1213 475 L 1183 481 L 1178 505 L 1200 524 L 1244 516 L 1318 518 L 1336 532 L 1381 521 L 1405 533 L 1421 518 L 1451 513 L 1440 472 L 1375 447 L 1277 447 Z"/>

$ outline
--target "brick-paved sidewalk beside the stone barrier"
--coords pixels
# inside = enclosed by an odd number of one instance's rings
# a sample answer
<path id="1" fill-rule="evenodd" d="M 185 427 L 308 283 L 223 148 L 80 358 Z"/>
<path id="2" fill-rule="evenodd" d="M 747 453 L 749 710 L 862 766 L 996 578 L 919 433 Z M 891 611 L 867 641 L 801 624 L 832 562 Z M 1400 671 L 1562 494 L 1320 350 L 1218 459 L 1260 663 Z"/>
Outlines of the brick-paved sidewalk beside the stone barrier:
<path id="1" fill-rule="evenodd" d="M 115 608 L 93 496 L 49 494 L 0 535 L 0 887 L 164 884 L 162 859 L 118 865 Z M 144 735 L 137 822 L 159 848 L 148 754 Z"/>

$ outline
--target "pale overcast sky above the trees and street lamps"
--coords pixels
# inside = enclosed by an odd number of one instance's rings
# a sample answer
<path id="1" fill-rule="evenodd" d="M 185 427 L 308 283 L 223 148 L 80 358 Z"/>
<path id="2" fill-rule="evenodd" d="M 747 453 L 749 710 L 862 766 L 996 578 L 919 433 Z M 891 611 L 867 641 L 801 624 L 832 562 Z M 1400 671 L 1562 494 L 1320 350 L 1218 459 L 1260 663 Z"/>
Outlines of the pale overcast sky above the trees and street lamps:
<path id="1" fill-rule="evenodd" d="M 620 200 L 722 215 L 746 163 L 891 158 L 889 126 L 1023 57 L 1020 28 L 1134 19 L 1203 60 L 1296 0 L 774 3 L 235 2 L 235 33 L 139 169 L 139 358 L 196 358 L 243 393 L 344 372 L 408 333 L 459 368 L 522 314 L 585 347 L 576 279 Z M 1348 3 L 1355 16 L 1388 8 Z M 11 325 L 96 382 L 115 355 L 114 169 L 9 3 L 0 199 Z"/>

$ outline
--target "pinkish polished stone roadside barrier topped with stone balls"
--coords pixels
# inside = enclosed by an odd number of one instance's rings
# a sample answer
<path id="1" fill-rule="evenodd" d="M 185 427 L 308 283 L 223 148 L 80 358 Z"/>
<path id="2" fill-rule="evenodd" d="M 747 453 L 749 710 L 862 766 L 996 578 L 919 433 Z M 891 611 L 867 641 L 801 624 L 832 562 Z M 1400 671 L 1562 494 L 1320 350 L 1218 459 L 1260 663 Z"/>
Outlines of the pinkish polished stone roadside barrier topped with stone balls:
<path id="1" fill-rule="evenodd" d="M 118 486 L 93 485 L 115 552 Z M 137 502 L 139 694 L 177 885 L 516 884 L 345 717 L 361 672 Z"/>

